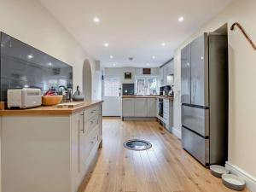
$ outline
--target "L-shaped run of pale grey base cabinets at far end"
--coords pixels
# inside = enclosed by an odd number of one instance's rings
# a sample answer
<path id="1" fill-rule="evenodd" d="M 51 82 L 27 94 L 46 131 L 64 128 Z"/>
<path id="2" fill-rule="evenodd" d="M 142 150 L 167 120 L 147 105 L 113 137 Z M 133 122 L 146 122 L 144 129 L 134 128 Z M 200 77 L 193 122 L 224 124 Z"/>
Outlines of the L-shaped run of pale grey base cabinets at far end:
<path id="1" fill-rule="evenodd" d="M 173 96 L 122 96 L 122 119 L 159 120 L 168 131 L 172 131 Z"/>

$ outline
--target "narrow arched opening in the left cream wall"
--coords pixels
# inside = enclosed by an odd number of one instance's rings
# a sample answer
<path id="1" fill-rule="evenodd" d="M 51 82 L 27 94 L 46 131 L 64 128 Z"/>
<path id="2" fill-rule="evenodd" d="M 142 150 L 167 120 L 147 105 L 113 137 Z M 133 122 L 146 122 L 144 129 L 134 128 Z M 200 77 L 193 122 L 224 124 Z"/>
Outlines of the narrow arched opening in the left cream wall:
<path id="1" fill-rule="evenodd" d="M 91 99 L 91 68 L 88 60 L 84 61 L 83 66 L 83 93 L 85 100 Z"/>

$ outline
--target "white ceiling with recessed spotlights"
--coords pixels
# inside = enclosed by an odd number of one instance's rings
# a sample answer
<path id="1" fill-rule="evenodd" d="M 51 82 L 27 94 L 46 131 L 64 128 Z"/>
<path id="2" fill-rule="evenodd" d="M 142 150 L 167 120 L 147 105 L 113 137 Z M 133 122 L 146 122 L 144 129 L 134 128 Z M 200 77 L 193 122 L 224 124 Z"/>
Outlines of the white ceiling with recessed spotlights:
<path id="1" fill-rule="evenodd" d="M 105 67 L 158 67 L 232 0 L 39 1 Z M 183 23 L 177 21 L 181 15 Z M 93 22 L 95 16 L 100 23 Z"/>

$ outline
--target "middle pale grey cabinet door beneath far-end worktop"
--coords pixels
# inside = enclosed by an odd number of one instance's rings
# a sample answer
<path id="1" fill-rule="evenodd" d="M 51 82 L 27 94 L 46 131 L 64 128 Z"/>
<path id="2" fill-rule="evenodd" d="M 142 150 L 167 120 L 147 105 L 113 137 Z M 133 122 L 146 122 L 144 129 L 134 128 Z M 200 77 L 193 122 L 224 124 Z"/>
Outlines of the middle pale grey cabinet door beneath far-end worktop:
<path id="1" fill-rule="evenodd" d="M 134 99 L 134 116 L 147 117 L 148 116 L 148 99 L 136 98 Z"/>

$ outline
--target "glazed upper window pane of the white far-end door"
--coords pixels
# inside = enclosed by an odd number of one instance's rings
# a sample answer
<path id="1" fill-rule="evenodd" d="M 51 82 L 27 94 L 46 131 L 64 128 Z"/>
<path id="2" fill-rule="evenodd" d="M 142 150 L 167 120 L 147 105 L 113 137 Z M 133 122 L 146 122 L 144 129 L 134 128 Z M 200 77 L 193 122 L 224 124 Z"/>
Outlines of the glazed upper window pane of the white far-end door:
<path id="1" fill-rule="evenodd" d="M 118 77 L 104 77 L 104 96 L 119 96 L 120 81 Z"/>

